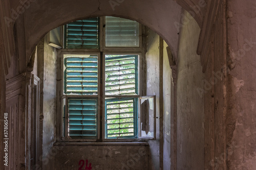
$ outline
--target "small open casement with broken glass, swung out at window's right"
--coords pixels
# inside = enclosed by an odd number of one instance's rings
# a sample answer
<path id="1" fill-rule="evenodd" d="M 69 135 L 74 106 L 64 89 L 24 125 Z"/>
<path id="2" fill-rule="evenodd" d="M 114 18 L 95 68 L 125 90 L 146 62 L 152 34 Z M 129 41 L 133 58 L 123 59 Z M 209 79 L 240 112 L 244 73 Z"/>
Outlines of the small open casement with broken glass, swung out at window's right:
<path id="1" fill-rule="evenodd" d="M 156 139 L 156 96 L 141 96 L 139 106 L 139 138 Z"/>

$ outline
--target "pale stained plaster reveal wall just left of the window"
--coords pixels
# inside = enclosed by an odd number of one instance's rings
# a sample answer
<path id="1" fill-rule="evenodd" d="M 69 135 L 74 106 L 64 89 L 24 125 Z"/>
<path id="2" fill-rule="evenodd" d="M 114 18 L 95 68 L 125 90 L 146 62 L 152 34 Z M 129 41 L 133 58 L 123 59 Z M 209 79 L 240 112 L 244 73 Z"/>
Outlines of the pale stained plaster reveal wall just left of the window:
<path id="1" fill-rule="evenodd" d="M 41 80 L 42 113 L 42 168 L 51 169 L 53 166 L 53 157 L 50 157 L 50 151 L 55 141 L 55 115 L 56 115 L 56 48 L 47 44 L 46 38 L 38 45 L 38 75 Z M 43 62 L 43 63 L 42 63 Z M 50 162 L 50 163 L 49 163 Z"/>

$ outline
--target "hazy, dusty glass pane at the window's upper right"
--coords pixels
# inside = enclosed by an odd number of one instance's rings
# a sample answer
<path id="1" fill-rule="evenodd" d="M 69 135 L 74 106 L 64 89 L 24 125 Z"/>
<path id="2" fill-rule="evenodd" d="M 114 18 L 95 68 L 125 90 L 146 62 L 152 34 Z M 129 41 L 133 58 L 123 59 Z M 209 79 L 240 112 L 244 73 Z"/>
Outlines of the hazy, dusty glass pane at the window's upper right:
<path id="1" fill-rule="evenodd" d="M 139 47 L 139 23 L 130 19 L 106 16 L 106 47 Z"/>

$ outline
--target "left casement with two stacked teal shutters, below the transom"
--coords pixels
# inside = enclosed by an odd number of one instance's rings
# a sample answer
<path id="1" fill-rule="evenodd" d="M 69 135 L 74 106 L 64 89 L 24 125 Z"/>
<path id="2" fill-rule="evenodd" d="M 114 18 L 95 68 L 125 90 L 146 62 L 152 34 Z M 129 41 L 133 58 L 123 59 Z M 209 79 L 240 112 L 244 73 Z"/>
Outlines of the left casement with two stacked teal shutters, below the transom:
<path id="1" fill-rule="evenodd" d="M 63 80 L 66 135 L 97 138 L 98 55 L 64 55 Z"/>

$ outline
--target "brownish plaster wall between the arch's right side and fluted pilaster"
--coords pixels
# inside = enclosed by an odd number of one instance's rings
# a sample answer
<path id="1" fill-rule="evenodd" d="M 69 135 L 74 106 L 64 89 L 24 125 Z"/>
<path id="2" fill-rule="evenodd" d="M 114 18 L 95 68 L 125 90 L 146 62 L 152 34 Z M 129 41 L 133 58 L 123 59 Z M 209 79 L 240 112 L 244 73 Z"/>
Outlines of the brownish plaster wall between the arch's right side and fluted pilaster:
<path id="1" fill-rule="evenodd" d="M 183 11 L 184 16 L 191 18 Z M 180 30 L 177 60 L 177 169 L 204 169 L 204 74 L 196 54 L 200 28 L 194 19 Z"/>

